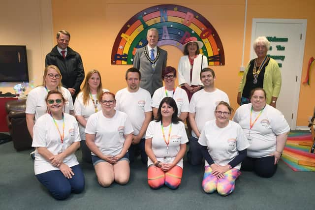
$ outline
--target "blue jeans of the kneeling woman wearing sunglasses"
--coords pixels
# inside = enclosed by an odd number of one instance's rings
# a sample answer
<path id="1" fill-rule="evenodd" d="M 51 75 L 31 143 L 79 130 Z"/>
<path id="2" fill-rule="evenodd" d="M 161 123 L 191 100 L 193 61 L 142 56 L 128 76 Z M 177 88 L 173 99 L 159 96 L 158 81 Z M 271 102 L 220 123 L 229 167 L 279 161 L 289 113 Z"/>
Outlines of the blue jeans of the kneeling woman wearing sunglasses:
<path id="1" fill-rule="evenodd" d="M 80 193 L 84 190 L 84 175 L 79 165 L 70 167 L 74 176 L 71 179 L 64 177 L 60 170 L 48 171 L 35 175 L 57 200 L 64 200 L 71 192 Z"/>

